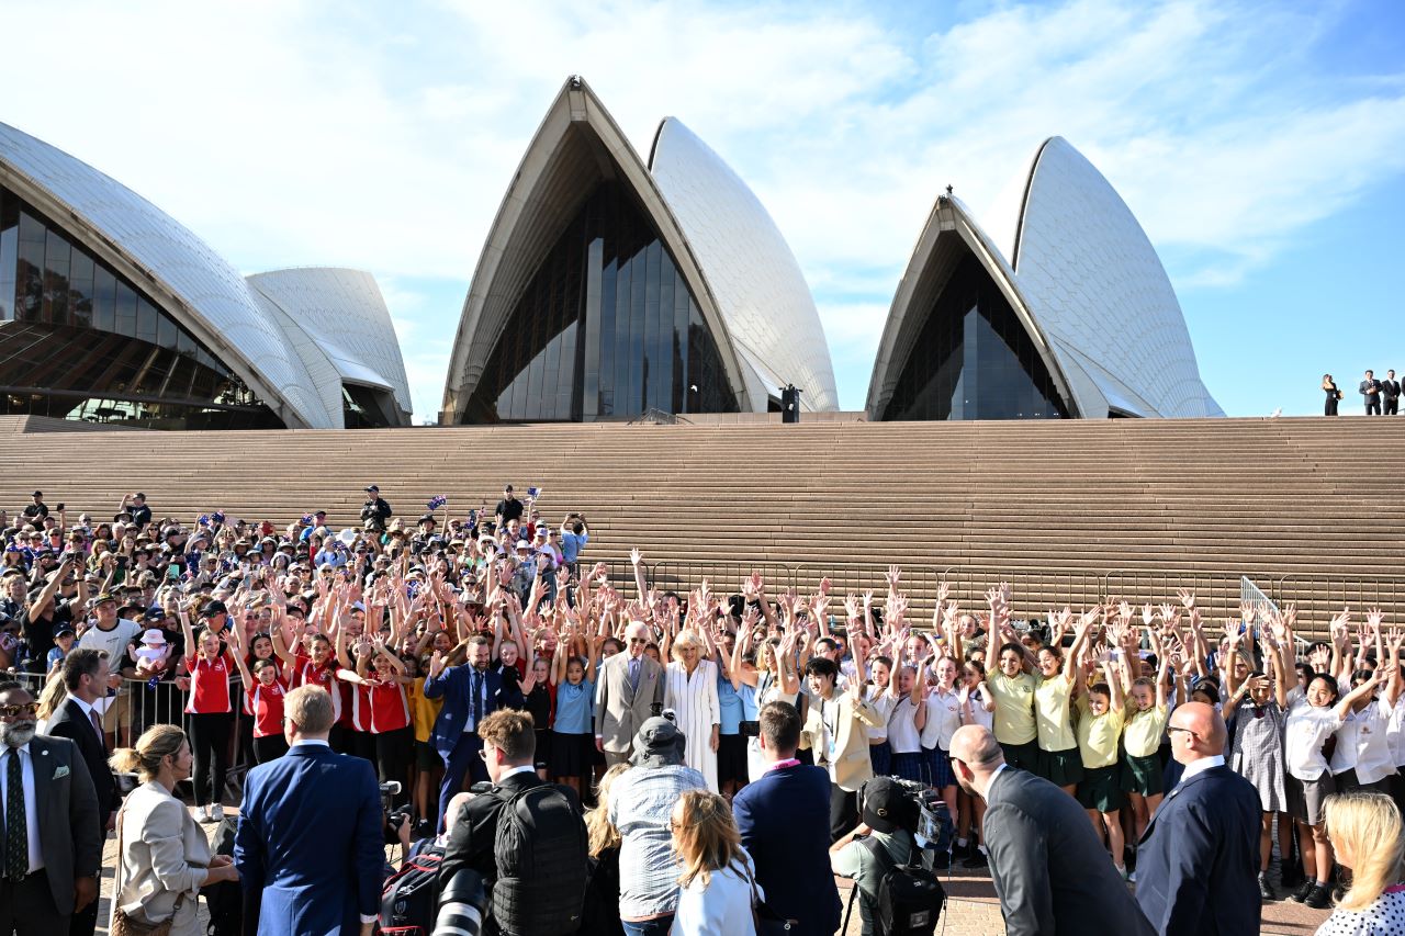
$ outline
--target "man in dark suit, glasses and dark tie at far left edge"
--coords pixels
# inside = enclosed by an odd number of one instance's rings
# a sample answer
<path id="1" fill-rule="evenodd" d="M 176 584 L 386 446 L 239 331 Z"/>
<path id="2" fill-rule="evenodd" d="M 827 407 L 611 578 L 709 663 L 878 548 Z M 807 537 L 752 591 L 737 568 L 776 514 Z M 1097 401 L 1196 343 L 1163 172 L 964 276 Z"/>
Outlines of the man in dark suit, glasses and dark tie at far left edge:
<path id="1" fill-rule="evenodd" d="M 0 683 L 0 936 L 53 936 L 97 901 L 97 793 L 77 746 L 35 735 L 35 704 Z"/>

